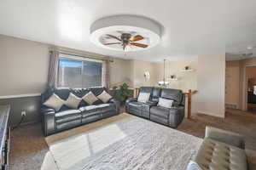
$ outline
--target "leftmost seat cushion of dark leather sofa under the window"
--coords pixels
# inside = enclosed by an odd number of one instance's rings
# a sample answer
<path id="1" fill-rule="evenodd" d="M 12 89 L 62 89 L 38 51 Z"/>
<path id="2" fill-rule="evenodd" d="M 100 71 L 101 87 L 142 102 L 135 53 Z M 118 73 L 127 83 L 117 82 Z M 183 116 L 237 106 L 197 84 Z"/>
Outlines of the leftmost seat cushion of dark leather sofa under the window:
<path id="1" fill-rule="evenodd" d="M 81 111 L 79 110 L 67 110 L 55 113 L 56 123 L 64 123 L 81 119 L 81 116 Z"/>

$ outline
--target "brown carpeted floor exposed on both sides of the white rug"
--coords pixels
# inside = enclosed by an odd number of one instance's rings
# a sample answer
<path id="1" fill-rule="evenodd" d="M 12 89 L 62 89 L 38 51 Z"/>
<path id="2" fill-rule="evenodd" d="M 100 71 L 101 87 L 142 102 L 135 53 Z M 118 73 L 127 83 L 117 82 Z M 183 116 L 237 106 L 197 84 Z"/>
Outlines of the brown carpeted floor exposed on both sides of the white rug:
<path id="1" fill-rule="evenodd" d="M 237 110 L 227 111 L 225 119 L 196 114 L 192 120 L 184 119 L 177 130 L 203 138 L 207 125 L 243 134 L 250 169 L 256 169 L 256 116 Z M 57 169 L 44 140 L 41 124 L 18 127 L 12 131 L 10 169 Z"/>

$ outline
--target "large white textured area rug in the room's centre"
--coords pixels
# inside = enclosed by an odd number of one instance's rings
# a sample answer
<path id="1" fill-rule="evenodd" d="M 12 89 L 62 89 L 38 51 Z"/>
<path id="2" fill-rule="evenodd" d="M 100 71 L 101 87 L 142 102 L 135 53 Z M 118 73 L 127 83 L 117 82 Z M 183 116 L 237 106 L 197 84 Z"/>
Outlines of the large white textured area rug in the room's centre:
<path id="1" fill-rule="evenodd" d="M 184 170 L 202 142 L 125 113 L 45 140 L 61 170 Z"/>

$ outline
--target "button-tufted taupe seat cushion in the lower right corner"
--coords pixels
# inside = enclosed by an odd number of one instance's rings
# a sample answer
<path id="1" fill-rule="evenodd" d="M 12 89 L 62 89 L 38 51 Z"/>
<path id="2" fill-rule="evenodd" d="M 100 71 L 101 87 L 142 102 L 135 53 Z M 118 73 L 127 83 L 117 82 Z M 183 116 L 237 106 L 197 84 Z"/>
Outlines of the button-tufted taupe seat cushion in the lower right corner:
<path id="1" fill-rule="evenodd" d="M 201 169 L 247 169 L 245 150 L 213 139 L 204 139 L 193 161 L 195 161 Z"/>

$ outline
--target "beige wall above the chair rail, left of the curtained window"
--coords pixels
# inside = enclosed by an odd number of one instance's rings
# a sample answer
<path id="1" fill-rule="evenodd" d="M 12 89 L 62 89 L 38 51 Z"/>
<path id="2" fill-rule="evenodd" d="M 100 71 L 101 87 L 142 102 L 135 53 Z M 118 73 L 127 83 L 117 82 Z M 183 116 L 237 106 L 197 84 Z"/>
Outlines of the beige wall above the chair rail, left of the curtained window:
<path id="1" fill-rule="evenodd" d="M 49 70 L 49 46 L 0 35 L 0 96 L 44 91 Z"/>

